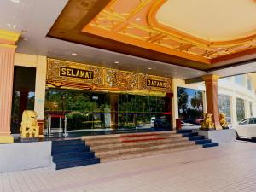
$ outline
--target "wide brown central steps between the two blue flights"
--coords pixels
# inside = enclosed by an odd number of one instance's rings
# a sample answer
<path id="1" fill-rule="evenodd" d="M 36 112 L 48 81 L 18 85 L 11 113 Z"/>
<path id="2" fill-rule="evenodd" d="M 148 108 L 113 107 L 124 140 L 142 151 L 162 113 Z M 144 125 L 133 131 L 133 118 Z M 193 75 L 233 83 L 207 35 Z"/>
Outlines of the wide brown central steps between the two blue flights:
<path id="1" fill-rule="evenodd" d="M 193 140 L 176 131 L 90 136 L 82 137 L 82 140 L 90 145 L 101 162 L 201 148 L 195 144 L 201 137 Z"/>

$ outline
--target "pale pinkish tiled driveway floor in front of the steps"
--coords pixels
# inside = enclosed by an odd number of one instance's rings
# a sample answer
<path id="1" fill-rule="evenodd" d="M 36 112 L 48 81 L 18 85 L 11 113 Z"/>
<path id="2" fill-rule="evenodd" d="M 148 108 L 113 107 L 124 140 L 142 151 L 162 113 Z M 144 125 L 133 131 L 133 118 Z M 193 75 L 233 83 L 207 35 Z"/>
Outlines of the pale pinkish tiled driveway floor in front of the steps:
<path id="1" fill-rule="evenodd" d="M 29 163 L 29 162 L 28 162 Z M 236 142 L 61 171 L 0 174 L 0 192 L 256 191 L 256 143 Z"/>

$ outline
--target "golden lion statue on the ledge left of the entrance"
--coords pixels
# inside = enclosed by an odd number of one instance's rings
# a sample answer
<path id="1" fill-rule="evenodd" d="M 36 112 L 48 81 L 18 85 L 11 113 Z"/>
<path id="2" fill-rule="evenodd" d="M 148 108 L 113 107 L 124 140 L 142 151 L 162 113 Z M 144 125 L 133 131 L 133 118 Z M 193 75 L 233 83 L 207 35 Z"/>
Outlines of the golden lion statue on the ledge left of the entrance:
<path id="1" fill-rule="evenodd" d="M 25 110 L 22 113 L 20 126 L 20 137 L 39 137 L 38 114 L 32 110 Z"/>

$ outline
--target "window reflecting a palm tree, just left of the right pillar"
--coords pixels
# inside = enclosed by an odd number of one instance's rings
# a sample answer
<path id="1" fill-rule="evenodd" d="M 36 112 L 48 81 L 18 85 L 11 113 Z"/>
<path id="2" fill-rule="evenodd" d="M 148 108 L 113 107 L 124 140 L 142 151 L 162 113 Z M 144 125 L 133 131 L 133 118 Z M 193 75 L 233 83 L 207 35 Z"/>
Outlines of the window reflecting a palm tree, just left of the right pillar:
<path id="1" fill-rule="evenodd" d="M 203 91 L 178 87 L 177 100 L 180 119 L 192 124 L 203 119 Z"/>

